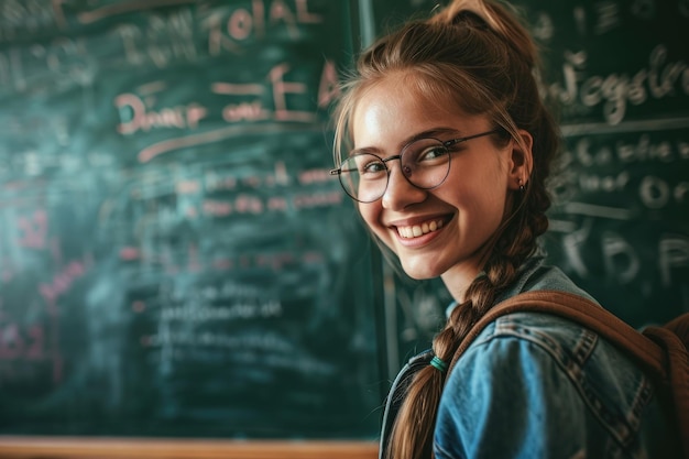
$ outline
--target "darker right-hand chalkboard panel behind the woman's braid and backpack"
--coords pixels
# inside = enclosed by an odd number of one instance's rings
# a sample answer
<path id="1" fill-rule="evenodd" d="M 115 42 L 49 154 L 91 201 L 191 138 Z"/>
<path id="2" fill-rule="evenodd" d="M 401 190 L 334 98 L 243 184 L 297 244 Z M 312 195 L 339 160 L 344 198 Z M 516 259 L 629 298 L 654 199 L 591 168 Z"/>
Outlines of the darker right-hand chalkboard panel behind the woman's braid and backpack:
<path id="1" fill-rule="evenodd" d="M 382 33 L 436 3 L 373 1 L 369 12 Z M 635 327 L 689 310 L 689 3 L 511 3 L 542 45 L 565 138 L 550 263 Z M 449 295 L 439 282 L 386 278 L 393 371 L 428 346 Z"/>

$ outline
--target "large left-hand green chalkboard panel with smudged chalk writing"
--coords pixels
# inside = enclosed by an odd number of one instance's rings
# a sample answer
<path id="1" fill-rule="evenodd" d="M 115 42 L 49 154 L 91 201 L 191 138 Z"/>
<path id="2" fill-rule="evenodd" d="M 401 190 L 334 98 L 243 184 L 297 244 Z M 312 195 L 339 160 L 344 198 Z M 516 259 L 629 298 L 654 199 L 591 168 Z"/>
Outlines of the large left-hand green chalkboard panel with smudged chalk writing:
<path id="1" fill-rule="evenodd" d="M 0 3 L 0 434 L 368 438 L 352 6 Z"/>

